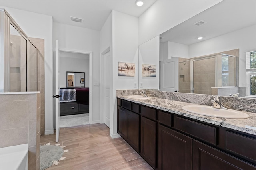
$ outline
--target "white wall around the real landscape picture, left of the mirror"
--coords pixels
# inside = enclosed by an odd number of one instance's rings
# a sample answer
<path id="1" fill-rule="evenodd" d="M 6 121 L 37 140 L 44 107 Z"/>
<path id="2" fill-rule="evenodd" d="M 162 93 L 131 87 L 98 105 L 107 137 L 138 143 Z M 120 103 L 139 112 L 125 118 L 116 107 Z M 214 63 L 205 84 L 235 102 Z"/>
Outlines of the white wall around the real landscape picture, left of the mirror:
<path id="1" fill-rule="evenodd" d="M 110 135 L 117 134 L 117 109 L 116 109 L 116 90 L 117 89 L 138 89 L 134 88 L 133 83 L 138 85 L 138 18 L 112 11 L 113 14 L 113 85 L 112 99 L 110 106 Z M 135 77 L 118 76 L 118 61 L 135 63 Z"/>

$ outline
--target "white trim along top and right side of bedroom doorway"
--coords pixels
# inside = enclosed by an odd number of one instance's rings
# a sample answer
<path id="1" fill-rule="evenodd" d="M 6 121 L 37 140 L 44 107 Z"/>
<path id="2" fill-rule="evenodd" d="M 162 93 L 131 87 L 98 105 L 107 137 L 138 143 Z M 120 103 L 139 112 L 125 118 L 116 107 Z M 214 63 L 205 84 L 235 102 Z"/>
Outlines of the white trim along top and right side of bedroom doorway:
<path id="1" fill-rule="evenodd" d="M 59 48 L 59 51 L 62 52 L 70 52 L 70 53 L 80 53 L 80 54 L 88 54 L 89 55 L 89 124 L 92 124 L 92 115 L 93 115 L 93 107 L 92 107 L 92 94 L 93 94 L 93 86 L 92 86 L 92 51 L 81 51 L 74 49 L 66 49 Z"/>

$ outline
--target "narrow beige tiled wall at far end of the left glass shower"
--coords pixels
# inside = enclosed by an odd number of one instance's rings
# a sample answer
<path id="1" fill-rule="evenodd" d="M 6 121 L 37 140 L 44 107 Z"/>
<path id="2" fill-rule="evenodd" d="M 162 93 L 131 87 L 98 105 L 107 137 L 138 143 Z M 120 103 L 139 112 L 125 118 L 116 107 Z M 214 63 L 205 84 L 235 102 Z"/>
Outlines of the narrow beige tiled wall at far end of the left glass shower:
<path id="1" fill-rule="evenodd" d="M 30 38 L 30 40 L 38 47 L 37 58 L 37 90 L 40 91 L 40 134 L 44 135 L 45 130 L 45 105 L 44 105 L 44 39 Z"/>

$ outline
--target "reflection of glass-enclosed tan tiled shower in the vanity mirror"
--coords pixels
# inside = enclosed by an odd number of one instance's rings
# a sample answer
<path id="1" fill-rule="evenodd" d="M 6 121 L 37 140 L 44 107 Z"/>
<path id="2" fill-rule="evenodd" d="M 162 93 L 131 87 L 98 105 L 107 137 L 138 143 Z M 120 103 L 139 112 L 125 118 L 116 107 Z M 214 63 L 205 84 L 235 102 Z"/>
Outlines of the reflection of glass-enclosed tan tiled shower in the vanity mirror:
<path id="1" fill-rule="evenodd" d="M 232 55 L 179 58 L 179 92 L 211 95 L 212 87 L 236 87 L 236 72 Z"/>

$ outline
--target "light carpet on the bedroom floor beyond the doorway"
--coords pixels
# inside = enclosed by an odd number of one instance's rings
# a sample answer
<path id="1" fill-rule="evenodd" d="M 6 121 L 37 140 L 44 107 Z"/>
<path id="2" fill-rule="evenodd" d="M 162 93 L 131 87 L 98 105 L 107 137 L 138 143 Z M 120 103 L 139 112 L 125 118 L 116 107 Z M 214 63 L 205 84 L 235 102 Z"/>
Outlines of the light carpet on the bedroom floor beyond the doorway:
<path id="1" fill-rule="evenodd" d="M 89 113 L 60 116 L 60 127 L 74 127 L 89 124 Z"/>

